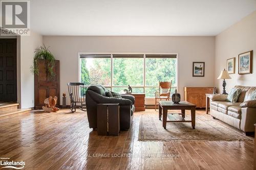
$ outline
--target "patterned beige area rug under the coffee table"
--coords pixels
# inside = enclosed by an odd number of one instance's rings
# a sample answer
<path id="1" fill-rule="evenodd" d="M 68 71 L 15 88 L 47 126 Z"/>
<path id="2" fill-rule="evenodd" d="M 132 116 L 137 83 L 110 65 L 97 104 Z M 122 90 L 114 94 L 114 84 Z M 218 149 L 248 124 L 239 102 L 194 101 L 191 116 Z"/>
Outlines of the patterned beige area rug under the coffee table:
<path id="1" fill-rule="evenodd" d="M 186 115 L 191 117 L 190 115 Z M 167 118 L 168 119 L 168 118 Z M 253 140 L 240 131 L 212 119 L 209 115 L 196 115 L 196 129 L 191 123 L 167 123 L 166 130 L 158 114 L 142 114 L 139 128 L 140 141 L 239 141 Z"/>

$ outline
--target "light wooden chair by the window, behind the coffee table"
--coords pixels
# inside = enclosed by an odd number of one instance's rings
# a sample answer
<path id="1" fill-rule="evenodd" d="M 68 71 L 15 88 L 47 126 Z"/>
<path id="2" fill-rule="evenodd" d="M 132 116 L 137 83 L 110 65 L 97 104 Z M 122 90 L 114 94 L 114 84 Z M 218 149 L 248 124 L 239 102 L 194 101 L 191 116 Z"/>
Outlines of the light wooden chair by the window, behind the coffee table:
<path id="1" fill-rule="evenodd" d="M 155 92 L 155 110 L 161 100 L 170 100 L 170 89 L 172 88 L 172 80 L 170 82 L 159 82 L 159 91 Z"/>

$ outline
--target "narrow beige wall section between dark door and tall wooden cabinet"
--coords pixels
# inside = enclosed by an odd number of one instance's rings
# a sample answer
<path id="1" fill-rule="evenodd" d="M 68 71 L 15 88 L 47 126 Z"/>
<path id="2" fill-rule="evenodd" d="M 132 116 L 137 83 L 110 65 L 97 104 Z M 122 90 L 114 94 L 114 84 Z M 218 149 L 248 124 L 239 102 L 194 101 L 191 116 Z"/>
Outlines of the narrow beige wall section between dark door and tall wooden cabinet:
<path id="1" fill-rule="evenodd" d="M 30 32 L 30 36 L 20 36 L 20 91 L 22 108 L 34 107 L 34 75 L 31 73 L 34 50 L 42 45 L 42 36 Z"/>

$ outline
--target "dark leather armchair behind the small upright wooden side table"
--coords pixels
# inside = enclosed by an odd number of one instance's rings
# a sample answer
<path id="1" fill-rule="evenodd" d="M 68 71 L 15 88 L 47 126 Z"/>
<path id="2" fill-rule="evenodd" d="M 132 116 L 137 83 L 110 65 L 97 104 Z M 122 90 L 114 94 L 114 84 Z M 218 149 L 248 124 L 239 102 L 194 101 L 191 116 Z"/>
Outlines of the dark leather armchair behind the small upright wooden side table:
<path id="1" fill-rule="evenodd" d="M 128 130 L 131 127 L 133 113 L 135 111 L 135 98 L 132 95 L 121 95 L 120 98 L 109 98 L 106 96 L 108 90 L 100 85 L 90 86 L 86 91 L 86 108 L 89 127 L 97 128 L 97 104 L 99 103 L 119 103 L 120 106 L 120 129 Z"/>

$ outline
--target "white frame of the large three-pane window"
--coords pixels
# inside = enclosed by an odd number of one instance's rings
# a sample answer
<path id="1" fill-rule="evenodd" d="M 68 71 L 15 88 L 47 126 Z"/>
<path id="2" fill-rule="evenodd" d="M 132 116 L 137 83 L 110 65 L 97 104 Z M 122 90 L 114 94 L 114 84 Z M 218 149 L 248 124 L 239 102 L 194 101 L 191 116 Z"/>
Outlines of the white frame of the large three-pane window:
<path id="1" fill-rule="evenodd" d="M 133 88 L 143 88 L 143 93 L 145 93 L 145 88 L 147 87 L 159 87 L 159 86 L 146 86 L 146 55 L 176 55 L 176 86 L 172 86 L 172 88 L 179 90 L 179 54 L 178 53 L 78 53 L 78 82 L 81 81 L 81 55 L 111 55 L 111 86 L 104 86 L 107 88 L 113 89 L 113 87 L 124 87 L 127 86 L 117 86 L 113 85 L 113 76 L 114 76 L 114 62 L 113 55 L 143 55 L 143 85 L 142 86 L 132 86 Z M 97 58 L 97 56 L 95 56 Z M 125 58 L 125 57 L 123 57 Z M 164 57 L 163 57 L 164 58 Z M 89 87 L 90 85 L 84 85 L 85 87 Z M 153 99 L 153 98 L 146 98 Z"/>

